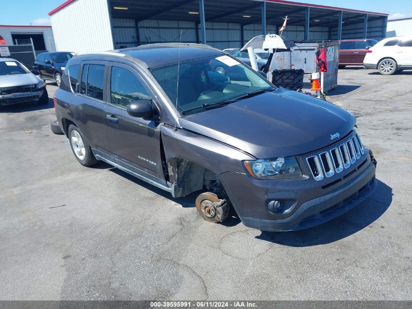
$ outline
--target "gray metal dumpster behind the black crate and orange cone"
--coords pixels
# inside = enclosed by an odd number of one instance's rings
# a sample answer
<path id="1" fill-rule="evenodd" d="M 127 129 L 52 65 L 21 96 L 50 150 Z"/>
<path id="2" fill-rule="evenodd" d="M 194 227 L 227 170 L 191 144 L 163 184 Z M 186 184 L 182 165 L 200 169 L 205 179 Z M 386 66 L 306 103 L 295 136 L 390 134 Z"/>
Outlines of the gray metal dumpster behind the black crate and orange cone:
<path id="1" fill-rule="evenodd" d="M 268 79 L 272 81 L 274 70 L 303 69 L 304 82 L 310 82 L 310 75 L 319 72 L 316 65 L 316 52 L 322 48 L 322 41 L 295 41 L 297 47 L 292 52 L 276 52 L 269 65 Z M 324 91 L 337 86 L 339 64 L 339 41 L 324 41 L 328 72 L 324 73 Z"/>

